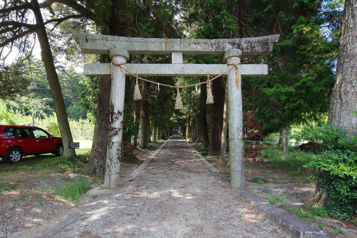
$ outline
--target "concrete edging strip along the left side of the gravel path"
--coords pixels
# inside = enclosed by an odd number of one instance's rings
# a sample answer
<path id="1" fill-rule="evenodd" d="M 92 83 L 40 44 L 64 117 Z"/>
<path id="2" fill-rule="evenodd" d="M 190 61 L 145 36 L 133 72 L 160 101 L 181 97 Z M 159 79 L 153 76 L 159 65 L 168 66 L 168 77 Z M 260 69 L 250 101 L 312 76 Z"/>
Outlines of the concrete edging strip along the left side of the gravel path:
<path id="1" fill-rule="evenodd" d="M 132 181 L 136 176 L 139 175 L 141 171 L 151 162 L 152 159 L 162 150 L 168 140 L 166 140 L 160 147 L 157 149 L 152 155 L 150 155 L 144 163 L 142 163 L 133 173 L 131 173 L 126 179 L 123 181 Z M 94 188 L 96 189 L 96 188 Z M 91 189 L 91 190 L 94 190 Z M 89 191 L 91 191 L 89 190 Z M 97 188 L 98 190 L 98 188 Z M 79 217 L 84 216 L 88 211 L 93 209 L 96 205 L 101 202 L 104 202 L 110 195 L 112 195 L 115 190 L 114 189 L 105 189 L 106 191 L 102 193 L 101 196 L 96 197 L 93 202 L 80 206 L 73 211 L 69 212 L 64 217 L 60 218 L 56 222 L 52 223 L 48 227 L 38 228 L 31 231 L 29 234 L 23 236 L 23 238 L 51 238 L 52 236 L 59 233 L 66 226 L 77 220 Z"/>

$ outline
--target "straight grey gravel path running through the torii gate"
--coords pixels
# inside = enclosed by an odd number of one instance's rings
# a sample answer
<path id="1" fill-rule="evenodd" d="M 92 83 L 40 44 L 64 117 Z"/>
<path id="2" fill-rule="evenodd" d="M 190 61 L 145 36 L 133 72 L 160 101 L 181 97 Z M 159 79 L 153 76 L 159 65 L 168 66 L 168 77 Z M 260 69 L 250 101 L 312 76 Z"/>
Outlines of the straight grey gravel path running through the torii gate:
<path id="1" fill-rule="evenodd" d="M 214 176 L 181 137 L 55 238 L 288 237 Z"/>

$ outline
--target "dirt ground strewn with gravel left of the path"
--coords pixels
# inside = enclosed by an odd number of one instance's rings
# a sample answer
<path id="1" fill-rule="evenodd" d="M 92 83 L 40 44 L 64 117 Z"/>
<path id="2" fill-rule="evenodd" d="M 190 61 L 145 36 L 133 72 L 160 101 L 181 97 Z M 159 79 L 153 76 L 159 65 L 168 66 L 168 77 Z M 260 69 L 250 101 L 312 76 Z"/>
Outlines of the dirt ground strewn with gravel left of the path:
<path id="1" fill-rule="evenodd" d="M 159 146 L 160 144 L 148 149 L 138 149 L 135 154 L 144 161 Z M 125 179 L 139 166 L 140 164 L 122 162 L 120 178 Z M 46 175 L 41 179 L 34 179 L 26 173 L 22 176 L 23 185 L 0 193 L 0 238 L 22 237 L 30 228 L 45 226 L 76 207 L 75 204 L 51 194 L 51 186 L 63 181 L 62 178 L 68 177 L 68 173 Z M 100 178 L 95 178 L 94 181 L 93 186 L 103 185 Z M 83 196 L 79 205 L 90 199 Z"/>

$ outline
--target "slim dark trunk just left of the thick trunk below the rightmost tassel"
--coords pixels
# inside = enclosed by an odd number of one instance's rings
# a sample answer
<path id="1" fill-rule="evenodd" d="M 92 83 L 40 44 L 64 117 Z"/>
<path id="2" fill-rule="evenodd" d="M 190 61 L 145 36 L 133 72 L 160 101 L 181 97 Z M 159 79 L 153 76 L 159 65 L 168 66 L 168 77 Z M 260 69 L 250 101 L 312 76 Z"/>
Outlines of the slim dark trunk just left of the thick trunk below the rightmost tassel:
<path id="1" fill-rule="evenodd" d="M 207 118 L 206 118 L 206 100 L 207 100 L 206 84 L 201 84 L 200 88 L 201 88 L 200 109 L 198 113 L 199 136 L 201 137 L 202 147 L 208 148 L 209 139 L 208 139 L 208 131 L 207 131 Z"/>

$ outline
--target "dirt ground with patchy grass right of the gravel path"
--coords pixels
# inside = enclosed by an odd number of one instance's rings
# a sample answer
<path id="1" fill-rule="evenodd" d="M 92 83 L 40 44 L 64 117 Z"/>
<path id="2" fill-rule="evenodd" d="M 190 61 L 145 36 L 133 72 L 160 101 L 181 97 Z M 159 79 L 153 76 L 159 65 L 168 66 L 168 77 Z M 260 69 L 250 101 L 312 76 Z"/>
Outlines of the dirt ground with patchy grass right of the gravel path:
<path id="1" fill-rule="evenodd" d="M 207 160 L 220 171 L 221 179 L 229 182 L 230 169 L 226 166 L 227 162 L 220 163 L 217 156 L 208 157 Z M 306 171 L 302 171 L 300 175 L 296 175 L 289 171 L 277 169 L 272 165 L 251 161 L 245 164 L 245 171 L 247 190 L 290 213 L 294 214 L 296 209 L 303 208 L 303 205 L 308 203 L 314 194 L 314 181 L 307 179 L 309 174 Z M 266 179 L 266 181 L 264 183 L 253 182 L 252 178 L 254 177 L 255 179 L 260 178 L 260 180 Z M 313 221 L 313 219 L 302 219 L 321 229 L 319 224 Z M 352 221 L 341 221 L 346 225 L 347 229 L 357 231 L 357 226 Z M 328 226 L 324 226 L 322 230 L 335 238 L 357 238 L 355 235 L 334 235 L 333 232 L 337 229 Z"/>

